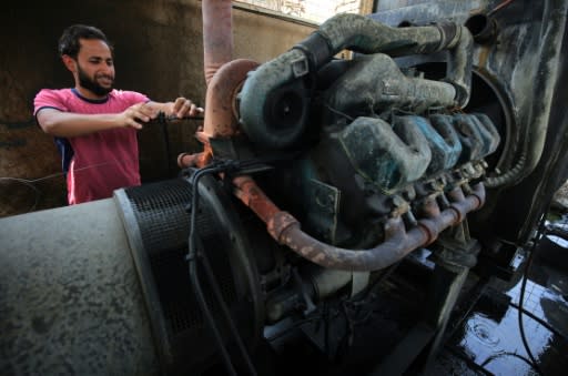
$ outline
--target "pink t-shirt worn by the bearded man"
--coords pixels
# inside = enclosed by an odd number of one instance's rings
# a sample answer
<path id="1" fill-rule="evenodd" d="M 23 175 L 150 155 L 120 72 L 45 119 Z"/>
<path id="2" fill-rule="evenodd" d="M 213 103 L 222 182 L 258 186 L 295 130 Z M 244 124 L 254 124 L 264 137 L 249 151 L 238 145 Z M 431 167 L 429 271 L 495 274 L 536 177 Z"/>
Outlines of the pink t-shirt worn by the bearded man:
<path id="1" fill-rule="evenodd" d="M 85 114 L 119 113 L 148 101 L 148 96 L 133 91 L 113 90 L 106 99 L 93 101 L 74 89 L 43 89 L 36 95 L 33 113 L 45 108 Z M 68 140 L 74 152 L 67 175 L 70 205 L 111 197 L 119 187 L 140 185 L 135 129 L 112 129 Z"/>

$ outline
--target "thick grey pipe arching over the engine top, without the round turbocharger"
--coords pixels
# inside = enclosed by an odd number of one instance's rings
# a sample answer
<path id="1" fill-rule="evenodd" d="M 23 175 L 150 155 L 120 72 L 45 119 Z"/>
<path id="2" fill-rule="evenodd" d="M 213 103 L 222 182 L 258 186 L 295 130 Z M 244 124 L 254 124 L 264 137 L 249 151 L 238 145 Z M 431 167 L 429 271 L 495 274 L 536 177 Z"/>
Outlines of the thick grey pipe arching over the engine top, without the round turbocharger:
<path id="1" fill-rule="evenodd" d="M 454 50 L 456 61 L 448 72 L 448 79 L 460 87 L 469 96 L 469 80 L 471 77 L 473 39 L 465 27 L 455 23 L 413 28 L 390 28 L 361 14 L 337 14 L 324 22 L 304 41 L 291 51 L 263 64 L 255 73 L 256 84 L 268 80 L 280 80 L 275 87 L 302 75 L 296 69 L 305 62 L 310 70 L 317 70 L 344 49 L 363 53 L 383 52 L 389 55 L 406 55 L 415 53 L 433 53 L 440 50 Z M 287 65 L 280 78 L 273 78 L 272 65 Z M 307 74 L 307 71 L 304 72 Z M 266 85 L 265 85 L 266 87 Z M 270 85 L 273 87 L 273 85 Z M 251 94 L 254 90 L 251 91 Z M 460 106 L 467 104 L 463 98 Z M 242 106 L 246 106 L 243 104 Z"/>

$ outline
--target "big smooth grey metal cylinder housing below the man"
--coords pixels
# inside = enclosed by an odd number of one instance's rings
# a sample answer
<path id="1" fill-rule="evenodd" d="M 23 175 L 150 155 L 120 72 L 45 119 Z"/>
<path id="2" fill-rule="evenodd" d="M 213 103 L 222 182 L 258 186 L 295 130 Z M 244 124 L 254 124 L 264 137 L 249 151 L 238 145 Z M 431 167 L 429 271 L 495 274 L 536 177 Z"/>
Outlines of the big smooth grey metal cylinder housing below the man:
<path id="1" fill-rule="evenodd" d="M 111 199 L 2 219 L 0 244 L 0 374 L 159 373 Z"/>

